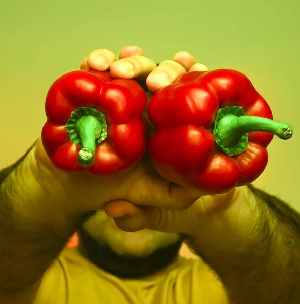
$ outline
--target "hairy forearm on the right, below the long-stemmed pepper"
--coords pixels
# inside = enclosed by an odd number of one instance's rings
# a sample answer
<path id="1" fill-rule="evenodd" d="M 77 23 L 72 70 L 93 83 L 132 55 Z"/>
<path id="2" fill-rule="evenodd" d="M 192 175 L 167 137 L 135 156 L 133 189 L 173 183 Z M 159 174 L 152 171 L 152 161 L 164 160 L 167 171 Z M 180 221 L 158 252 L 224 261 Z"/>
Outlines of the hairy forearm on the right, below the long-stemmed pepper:
<path id="1" fill-rule="evenodd" d="M 255 192 L 244 187 L 226 212 L 204 223 L 205 234 L 195 232 L 189 242 L 237 304 L 299 303 L 300 215 Z"/>

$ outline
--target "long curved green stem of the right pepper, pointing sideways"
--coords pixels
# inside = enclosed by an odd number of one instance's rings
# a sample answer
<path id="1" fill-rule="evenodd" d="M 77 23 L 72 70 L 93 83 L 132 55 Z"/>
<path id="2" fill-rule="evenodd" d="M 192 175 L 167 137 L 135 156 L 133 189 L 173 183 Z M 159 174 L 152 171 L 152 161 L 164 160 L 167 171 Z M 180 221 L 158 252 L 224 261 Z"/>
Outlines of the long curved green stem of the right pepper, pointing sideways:
<path id="1" fill-rule="evenodd" d="M 274 120 L 256 116 L 236 116 L 228 113 L 219 121 L 219 140 L 224 147 L 232 147 L 241 137 L 249 132 L 261 131 L 272 133 L 281 139 L 292 137 L 292 127 Z"/>

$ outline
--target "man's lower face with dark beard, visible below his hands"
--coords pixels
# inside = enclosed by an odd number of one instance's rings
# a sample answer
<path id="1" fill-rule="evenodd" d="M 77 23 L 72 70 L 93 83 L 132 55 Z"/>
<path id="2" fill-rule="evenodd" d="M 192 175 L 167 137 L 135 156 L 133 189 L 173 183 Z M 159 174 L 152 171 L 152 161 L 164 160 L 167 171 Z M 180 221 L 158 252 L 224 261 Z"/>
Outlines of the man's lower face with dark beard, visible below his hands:
<path id="1" fill-rule="evenodd" d="M 119 277 L 149 275 L 177 256 L 178 234 L 144 229 L 125 232 L 104 212 L 97 213 L 80 229 L 80 250 L 100 268 Z"/>

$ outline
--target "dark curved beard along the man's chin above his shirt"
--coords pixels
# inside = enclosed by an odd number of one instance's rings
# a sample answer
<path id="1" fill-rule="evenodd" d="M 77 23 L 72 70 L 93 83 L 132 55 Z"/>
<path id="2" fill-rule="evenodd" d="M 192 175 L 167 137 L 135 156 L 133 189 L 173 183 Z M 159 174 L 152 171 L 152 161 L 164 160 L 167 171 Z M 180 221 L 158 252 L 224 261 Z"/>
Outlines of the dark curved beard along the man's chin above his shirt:
<path id="1" fill-rule="evenodd" d="M 102 270 L 125 279 L 146 277 L 167 267 L 178 256 L 183 243 L 183 238 L 180 237 L 173 244 L 138 257 L 115 252 L 107 244 L 94 240 L 83 227 L 80 227 L 78 236 L 79 250 L 85 257 Z"/>

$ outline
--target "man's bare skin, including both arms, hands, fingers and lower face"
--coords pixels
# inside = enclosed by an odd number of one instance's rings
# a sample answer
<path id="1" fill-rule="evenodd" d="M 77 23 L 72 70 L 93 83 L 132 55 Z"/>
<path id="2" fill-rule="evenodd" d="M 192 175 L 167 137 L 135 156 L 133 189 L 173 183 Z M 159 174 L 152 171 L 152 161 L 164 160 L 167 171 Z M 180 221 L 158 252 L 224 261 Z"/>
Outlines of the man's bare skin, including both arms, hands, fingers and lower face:
<path id="1" fill-rule="evenodd" d="M 149 96 L 187 70 L 207 69 L 187 52 L 156 67 L 136 46 L 123 48 L 119 60 L 109 50 L 96 50 L 82 61 L 86 67 L 146 82 Z M 155 172 L 147 154 L 119 175 L 68 174 L 52 165 L 39 139 L 1 172 L 0 223 L 0 302 L 7 304 L 32 303 L 44 272 L 82 226 L 99 244 L 140 257 L 180 235 L 207 264 L 199 286 L 211 288 L 207 302 L 300 302 L 295 210 L 253 187 L 208 196 L 172 184 Z"/>

